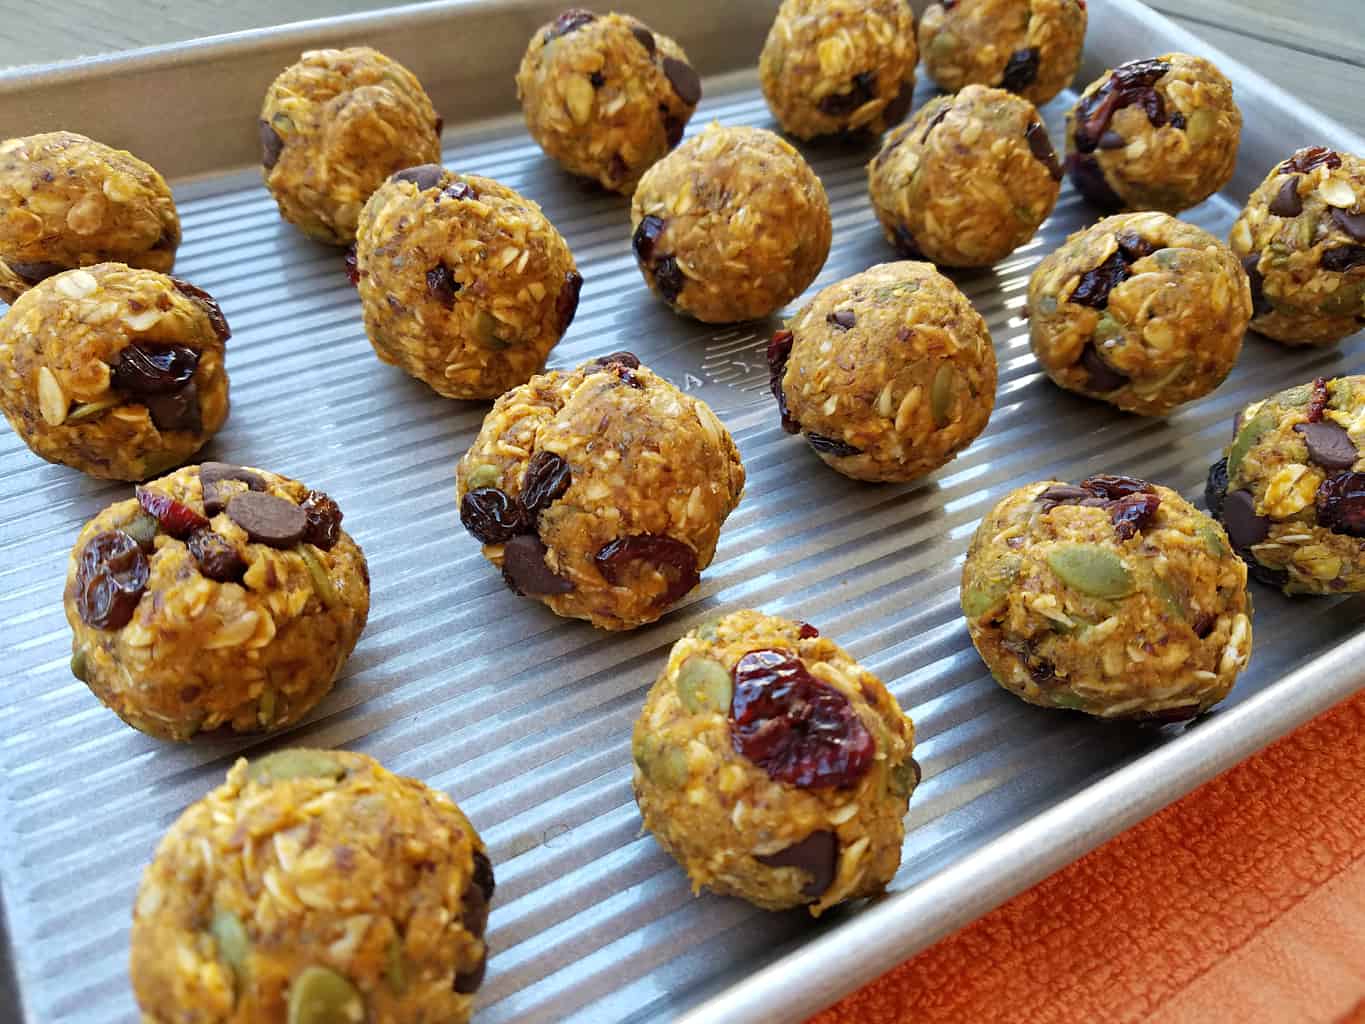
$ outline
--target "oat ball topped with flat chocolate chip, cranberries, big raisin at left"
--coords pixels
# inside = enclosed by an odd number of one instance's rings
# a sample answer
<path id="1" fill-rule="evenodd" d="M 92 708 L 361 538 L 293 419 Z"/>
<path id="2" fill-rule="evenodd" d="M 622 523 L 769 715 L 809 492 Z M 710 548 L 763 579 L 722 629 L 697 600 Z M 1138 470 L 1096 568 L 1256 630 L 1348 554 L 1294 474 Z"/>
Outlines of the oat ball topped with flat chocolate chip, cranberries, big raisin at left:
<path id="1" fill-rule="evenodd" d="M 138 487 L 76 538 L 71 672 L 165 740 L 298 722 L 370 612 L 364 554 L 321 490 L 203 463 Z"/>

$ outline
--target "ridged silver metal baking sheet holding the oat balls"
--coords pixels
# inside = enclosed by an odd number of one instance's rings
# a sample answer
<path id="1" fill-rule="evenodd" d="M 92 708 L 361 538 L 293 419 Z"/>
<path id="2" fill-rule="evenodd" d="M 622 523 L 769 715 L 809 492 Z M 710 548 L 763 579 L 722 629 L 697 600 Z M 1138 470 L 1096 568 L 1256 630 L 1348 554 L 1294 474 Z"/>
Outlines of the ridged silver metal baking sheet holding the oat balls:
<path id="1" fill-rule="evenodd" d="M 0 1020 L 136 1020 L 126 978 L 132 894 L 154 844 L 239 754 L 283 744 L 371 754 L 460 801 L 489 841 L 498 893 L 476 1020 L 796 1021 L 1365 684 L 1365 599 L 1286 601 L 1256 588 L 1256 646 L 1233 696 L 1189 728 L 1103 726 L 1040 711 L 986 673 L 957 610 L 962 552 L 1009 489 L 1114 470 L 1190 497 L 1239 404 L 1319 374 L 1365 370 L 1365 341 L 1291 352 L 1254 336 L 1212 396 L 1164 422 L 1069 396 L 1039 373 L 1020 318 L 1043 254 L 1093 213 L 1065 188 L 1055 214 L 994 270 L 956 273 L 1001 363 L 987 433 L 908 486 L 860 485 L 778 429 L 764 393 L 774 324 L 711 329 L 639 280 L 625 201 L 546 161 L 512 108 L 511 75 L 541 3 L 446 3 L 246 33 L 0 75 L 0 134 L 59 126 L 128 146 L 177 180 L 177 273 L 233 328 L 233 410 L 205 457 L 269 466 L 345 509 L 374 579 L 370 627 L 344 679 L 285 736 L 167 745 L 121 725 L 67 669 L 61 582 L 81 523 L 128 487 L 86 479 L 0 436 L 0 885 L 8 960 Z M 698 63 L 752 63 L 775 3 L 627 4 Z M 460 530 L 453 467 L 486 406 L 446 401 L 379 365 L 340 255 L 283 224 L 254 158 L 265 85 L 306 46 L 371 42 L 410 63 L 446 112 L 445 160 L 536 198 L 584 273 L 553 366 L 631 348 L 729 423 L 749 472 L 702 587 L 663 621 L 607 635 L 513 598 Z M 1237 179 L 1189 220 L 1224 233 L 1235 206 L 1295 146 L 1365 150 L 1340 126 L 1133 0 L 1091 5 L 1080 81 L 1171 49 L 1230 74 L 1246 115 Z M 470 93 L 471 83 L 483 91 Z M 921 86 L 920 100 L 930 94 Z M 1059 138 L 1062 97 L 1046 113 Z M 479 117 L 455 124 L 452 112 Z M 751 71 L 711 76 L 693 120 L 771 126 Z M 891 258 L 865 199 L 870 147 L 803 147 L 834 210 L 823 287 Z M 684 631 L 760 606 L 811 620 L 879 673 L 913 714 L 924 766 L 904 867 L 875 904 L 768 915 L 692 898 L 640 834 L 629 729 Z M 0 978 L 5 973 L 0 969 Z M 12 987 L 5 1004 L 5 990 Z"/>

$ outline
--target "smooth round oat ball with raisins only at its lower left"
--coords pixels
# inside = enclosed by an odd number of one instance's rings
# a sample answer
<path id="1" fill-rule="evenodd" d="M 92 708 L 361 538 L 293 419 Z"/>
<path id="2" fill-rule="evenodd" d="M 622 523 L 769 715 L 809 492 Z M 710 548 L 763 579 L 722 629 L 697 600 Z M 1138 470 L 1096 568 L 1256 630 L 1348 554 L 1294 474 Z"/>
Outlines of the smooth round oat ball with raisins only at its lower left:
<path id="1" fill-rule="evenodd" d="M 762 128 L 711 124 L 651 167 L 631 201 L 636 262 L 704 324 L 760 319 L 805 291 L 834 227 L 824 186 Z"/>

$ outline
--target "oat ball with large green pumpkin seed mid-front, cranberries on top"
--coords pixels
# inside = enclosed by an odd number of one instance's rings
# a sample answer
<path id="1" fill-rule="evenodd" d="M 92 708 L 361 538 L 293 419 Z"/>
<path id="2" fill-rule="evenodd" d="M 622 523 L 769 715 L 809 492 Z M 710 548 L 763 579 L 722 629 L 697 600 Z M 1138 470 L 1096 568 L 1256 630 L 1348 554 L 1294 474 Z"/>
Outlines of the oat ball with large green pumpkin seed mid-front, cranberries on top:
<path id="1" fill-rule="evenodd" d="M 1006 496 L 962 567 L 962 614 L 995 681 L 1100 718 L 1193 718 L 1252 651 L 1246 565 L 1222 527 L 1132 477 Z"/>

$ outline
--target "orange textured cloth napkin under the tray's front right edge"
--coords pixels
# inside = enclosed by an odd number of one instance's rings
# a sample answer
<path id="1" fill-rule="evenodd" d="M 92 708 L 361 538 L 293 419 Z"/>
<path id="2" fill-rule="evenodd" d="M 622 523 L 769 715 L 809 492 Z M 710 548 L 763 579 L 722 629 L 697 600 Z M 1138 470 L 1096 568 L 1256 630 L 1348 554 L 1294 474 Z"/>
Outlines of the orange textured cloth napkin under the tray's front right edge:
<path id="1" fill-rule="evenodd" d="M 1365 1024 L 1365 694 L 811 1024 Z"/>

